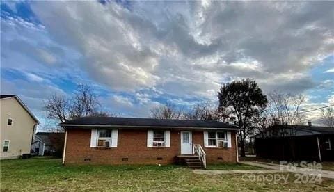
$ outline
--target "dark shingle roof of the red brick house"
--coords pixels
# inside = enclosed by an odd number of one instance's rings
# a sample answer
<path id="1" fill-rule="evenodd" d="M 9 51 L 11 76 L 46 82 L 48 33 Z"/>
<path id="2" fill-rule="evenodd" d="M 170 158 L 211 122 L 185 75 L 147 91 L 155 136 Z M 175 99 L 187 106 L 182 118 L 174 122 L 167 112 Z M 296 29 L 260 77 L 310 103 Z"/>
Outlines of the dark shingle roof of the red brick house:
<path id="1" fill-rule="evenodd" d="M 86 117 L 70 120 L 60 124 L 63 127 L 99 127 L 99 126 L 122 126 L 122 127 L 170 127 L 170 128 L 221 128 L 235 129 L 239 128 L 214 120 L 161 120 L 151 118 L 113 118 L 113 117 Z"/>

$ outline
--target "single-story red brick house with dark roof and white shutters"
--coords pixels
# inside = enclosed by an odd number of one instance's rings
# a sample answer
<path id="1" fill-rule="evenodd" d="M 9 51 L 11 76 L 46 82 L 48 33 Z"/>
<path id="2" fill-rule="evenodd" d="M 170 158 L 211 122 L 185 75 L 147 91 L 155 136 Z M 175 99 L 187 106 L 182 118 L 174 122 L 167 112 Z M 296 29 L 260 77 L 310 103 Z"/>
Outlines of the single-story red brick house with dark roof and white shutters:
<path id="1" fill-rule="evenodd" d="M 237 163 L 238 127 L 217 121 L 88 117 L 65 128 L 63 163 Z"/>

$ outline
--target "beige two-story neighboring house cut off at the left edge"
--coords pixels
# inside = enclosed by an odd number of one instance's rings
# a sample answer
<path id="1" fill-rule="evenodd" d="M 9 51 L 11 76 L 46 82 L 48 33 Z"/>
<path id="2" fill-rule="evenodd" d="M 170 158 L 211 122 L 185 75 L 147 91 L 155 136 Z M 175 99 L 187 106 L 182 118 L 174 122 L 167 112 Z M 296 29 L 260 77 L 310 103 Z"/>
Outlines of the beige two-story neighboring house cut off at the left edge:
<path id="1" fill-rule="evenodd" d="M 0 95 L 1 159 L 15 159 L 30 154 L 38 119 L 17 95 Z"/>

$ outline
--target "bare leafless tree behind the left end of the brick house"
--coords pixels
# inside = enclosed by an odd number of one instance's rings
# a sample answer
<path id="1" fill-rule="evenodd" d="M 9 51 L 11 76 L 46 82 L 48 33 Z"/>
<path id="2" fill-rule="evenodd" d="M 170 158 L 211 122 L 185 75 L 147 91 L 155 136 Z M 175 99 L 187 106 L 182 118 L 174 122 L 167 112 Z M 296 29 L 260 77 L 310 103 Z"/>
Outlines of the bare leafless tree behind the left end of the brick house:
<path id="1" fill-rule="evenodd" d="M 53 118 L 58 122 L 66 122 L 75 118 L 86 116 L 110 116 L 109 113 L 100 110 L 101 105 L 98 96 L 93 93 L 90 86 L 80 85 L 73 97 L 64 95 L 51 95 L 45 101 L 47 118 Z"/>

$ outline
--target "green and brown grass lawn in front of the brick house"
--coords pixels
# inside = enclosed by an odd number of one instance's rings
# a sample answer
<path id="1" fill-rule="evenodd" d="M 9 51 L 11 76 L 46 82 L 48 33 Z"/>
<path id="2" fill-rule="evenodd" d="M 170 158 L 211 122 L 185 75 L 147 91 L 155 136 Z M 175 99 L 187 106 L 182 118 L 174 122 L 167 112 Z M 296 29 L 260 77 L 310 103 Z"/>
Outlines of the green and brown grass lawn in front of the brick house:
<path id="1" fill-rule="evenodd" d="M 234 167 L 235 166 L 231 166 Z M 287 173 L 285 173 L 287 174 Z M 252 182 L 242 175 L 196 175 L 181 166 L 62 166 L 60 159 L 1 161 L 1 191 L 333 191 L 321 184 Z"/>

